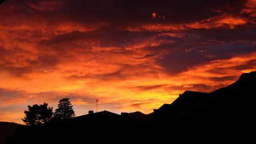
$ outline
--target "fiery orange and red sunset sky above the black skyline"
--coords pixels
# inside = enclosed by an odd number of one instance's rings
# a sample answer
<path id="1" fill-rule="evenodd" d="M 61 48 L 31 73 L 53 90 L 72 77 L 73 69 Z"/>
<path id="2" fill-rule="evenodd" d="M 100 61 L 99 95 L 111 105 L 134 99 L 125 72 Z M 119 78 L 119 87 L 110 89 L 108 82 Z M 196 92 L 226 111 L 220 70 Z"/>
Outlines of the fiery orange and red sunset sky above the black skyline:
<path id="1" fill-rule="evenodd" d="M 147 114 L 256 66 L 256 0 L 7 0 L 0 19 L 0 121 L 62 98 Z"/>

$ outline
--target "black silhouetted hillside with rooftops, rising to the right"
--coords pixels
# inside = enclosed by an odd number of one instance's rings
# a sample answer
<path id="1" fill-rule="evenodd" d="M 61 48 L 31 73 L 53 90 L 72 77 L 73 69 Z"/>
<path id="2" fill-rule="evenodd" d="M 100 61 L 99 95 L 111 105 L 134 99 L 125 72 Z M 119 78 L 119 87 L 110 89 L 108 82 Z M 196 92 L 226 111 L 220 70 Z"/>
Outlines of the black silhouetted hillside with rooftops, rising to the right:
<path id="1" fill-rule="evenodd" d="M 20 127 L 8 142 L 256 143 L 255 82 L 253 71 L 209 93 L 185 91 L 150 114 L 101 111 Z"/>

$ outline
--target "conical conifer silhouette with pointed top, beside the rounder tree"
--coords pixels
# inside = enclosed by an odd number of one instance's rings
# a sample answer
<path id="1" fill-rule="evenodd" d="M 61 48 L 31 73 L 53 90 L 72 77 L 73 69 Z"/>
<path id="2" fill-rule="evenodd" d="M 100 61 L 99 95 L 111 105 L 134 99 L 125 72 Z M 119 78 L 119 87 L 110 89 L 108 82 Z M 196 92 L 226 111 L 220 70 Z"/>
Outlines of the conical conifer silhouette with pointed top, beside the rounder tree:
<path id="1" fill-rule="evenodd" d="M 54 112 L 55 118 L 68 119 L 75 117 L 75 112 L 69 98 L 60 99 L 58 108 Z"/>

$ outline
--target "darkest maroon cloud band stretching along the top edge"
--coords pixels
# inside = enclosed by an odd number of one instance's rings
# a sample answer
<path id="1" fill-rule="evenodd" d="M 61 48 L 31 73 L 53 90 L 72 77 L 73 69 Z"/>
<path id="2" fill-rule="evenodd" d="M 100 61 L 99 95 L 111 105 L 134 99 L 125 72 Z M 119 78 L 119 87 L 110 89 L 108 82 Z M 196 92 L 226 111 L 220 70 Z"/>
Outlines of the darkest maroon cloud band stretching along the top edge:
<path id="1" fill-rule="evenodd" d="M 115 27 L 142 23 L 184 23 L 202 20 L 223 13 L 237 14 L 245 0 L 195 0 L 195 1 L 9 1 L 3 6 L 17 5 L 15 14 L 41 17 L 50 23 L 77 21 L 82 23 L 107 22 Z M 26 11 L 23 11 L 26 10 Z M 164 19 L 152 19 L 152 13 Z M 21 17 L 20 17 L 20 20 Z"/>

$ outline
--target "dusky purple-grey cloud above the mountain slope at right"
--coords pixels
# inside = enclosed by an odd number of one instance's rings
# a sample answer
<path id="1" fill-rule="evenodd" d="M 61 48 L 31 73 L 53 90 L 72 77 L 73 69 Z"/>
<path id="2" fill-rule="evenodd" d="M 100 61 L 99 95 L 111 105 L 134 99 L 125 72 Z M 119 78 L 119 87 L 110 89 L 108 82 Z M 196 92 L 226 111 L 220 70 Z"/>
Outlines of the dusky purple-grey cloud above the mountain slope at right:
<path id="1" fill-rule="evenodd" d="M 167 52 L 162 57 L 158 57 L 156 63 L 162 66 L 167 74 L 175 75 L 212 60 L 229 59 L 255 52 L 255 45 L 250 43 L 202 44 L 205 41 L 204 37 L 201 38 L 200 35 L 197 38 L 193 37 L 191 39 L 195 39 L 194 41 L 182 40 L 164 47 L 162 51 L 167 50 Z M 193 51 L 185 52 L 189 49 Z"/>

